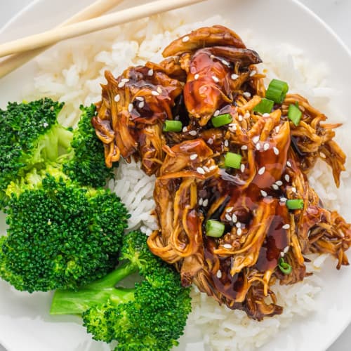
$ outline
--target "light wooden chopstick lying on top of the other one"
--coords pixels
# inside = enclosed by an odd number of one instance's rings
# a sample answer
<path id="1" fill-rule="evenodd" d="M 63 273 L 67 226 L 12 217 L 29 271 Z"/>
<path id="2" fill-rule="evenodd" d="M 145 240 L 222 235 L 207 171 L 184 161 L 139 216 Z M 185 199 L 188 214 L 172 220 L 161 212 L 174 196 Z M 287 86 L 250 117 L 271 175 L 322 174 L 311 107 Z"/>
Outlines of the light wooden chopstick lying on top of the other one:
<path id="1" fill-rule="evenodd" d="M 121 25 L 133 20 L 139 20 L 140 18 L 171 11 L 176 8 L 199 3 L 201 1 L 204 0 L 158 0 L 111 13 L 109 15 L 103 15 L 99 18 L 93 18 L 92 20 L 86 20 L 73 25 L 55 28 L 41 34 L 34 34 L 29 37 L 0 44 L 0 57 L 11 55 L 13 53 L 22 53 L 23 51 L 32 50 L 35 48 L 42 48 L 43 46 L 55 44 L 58 41 L 79 37 L 83 34 L 96 32 L 115 25 Z"/>

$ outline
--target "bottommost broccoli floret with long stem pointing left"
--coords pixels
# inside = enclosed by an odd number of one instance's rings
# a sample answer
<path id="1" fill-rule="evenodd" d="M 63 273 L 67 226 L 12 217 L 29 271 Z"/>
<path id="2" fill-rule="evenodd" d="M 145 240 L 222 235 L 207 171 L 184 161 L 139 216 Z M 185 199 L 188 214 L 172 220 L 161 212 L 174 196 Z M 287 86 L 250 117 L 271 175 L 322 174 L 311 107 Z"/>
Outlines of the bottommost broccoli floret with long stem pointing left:
<path id="1" fill-rule="evenodd" d="M 120 259 L 117 269 L 97 282 L 55 291 L 51 314 L 81 314 L 95 340 L 118 341 L 115 350 L 170 350 L 191 310 L 189 289 L 173 267 L 149 251 L 145 234 L 127 234 Z M 134 289 L 116 287 L 133 272 L 144 280 Z"/>

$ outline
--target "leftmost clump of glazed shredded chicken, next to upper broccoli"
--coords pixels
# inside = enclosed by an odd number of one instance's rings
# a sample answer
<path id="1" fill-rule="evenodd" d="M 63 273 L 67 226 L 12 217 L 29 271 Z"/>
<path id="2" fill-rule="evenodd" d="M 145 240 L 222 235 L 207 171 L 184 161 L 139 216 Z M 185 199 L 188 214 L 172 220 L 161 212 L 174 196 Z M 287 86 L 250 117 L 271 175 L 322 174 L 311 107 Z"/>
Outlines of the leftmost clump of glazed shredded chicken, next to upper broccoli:
<path id="1" fill-rule="evenodd" d="M 122 156 L 141 159 L 148 175 L 157 172 L 165 145 L 162 126 L 173 119 L 171 107 L 182 86 L 164 72 L 149 67 L 131 67 L 115 79 L 106 72 L 107 84 L 102 86 L 102 102 L 92 123 L 105 144 L 105 161 Z"/>

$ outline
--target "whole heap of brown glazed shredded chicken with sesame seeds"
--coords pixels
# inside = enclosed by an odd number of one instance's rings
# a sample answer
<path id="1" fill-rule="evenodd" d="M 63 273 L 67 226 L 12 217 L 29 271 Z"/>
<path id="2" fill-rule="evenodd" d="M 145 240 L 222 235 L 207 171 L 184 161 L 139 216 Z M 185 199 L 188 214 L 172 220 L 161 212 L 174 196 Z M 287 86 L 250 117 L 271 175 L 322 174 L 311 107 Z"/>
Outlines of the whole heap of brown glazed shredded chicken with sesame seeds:
<path id="1" fill-rule="evenodd" d="M 345 154 L 333 140 L 340 124 L 326 124 L 296 94 L 270 113 L 255 111 L 266 93 L 260 57 L 225 27 L 197 29 L 169 44 L 164 57 L 118 79 L 106 73 L 93 118 L 106 164 L 133 156 L 156 174 L 159 230 L 148 245 L 176 266 L 183 286 L 196 284 L 254 319 L 280 314 L 272 285 L 310 274 L 307 254 L 330 253 L 338 269 L 349 264 L 351 225 L 322 206 L 307 178 L 322 159 L 340 184 Z M 297 126 L 288 118 L 296 103 Z M 232 121 L 216 128 L 211 120 L 222 114 Z M 167 120 L 180 121 L 182 131 L 164 132 Z M 241 156 L 239 168 L 225 168 L 227 152 Z M 303 208 L 289 209 L 292 199 Z M 208 236 L 208 220 L 225 226 L 222 236 Z"/>

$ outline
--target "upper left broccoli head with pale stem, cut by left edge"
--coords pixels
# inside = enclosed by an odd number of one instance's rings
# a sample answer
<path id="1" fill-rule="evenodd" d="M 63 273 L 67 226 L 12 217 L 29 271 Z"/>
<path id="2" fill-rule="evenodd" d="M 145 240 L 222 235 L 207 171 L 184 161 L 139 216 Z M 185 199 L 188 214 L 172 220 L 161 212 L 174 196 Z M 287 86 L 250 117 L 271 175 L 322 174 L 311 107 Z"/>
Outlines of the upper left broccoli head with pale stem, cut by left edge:
<path id="1" fill-rule="evenodd" d="M 63 104 L 51 99 L 29 103 L 10 102 L 0 110 L 0 201 L 8 184 L 33 167 L 58 158 L 58 148 L 69 147 L 73 134 L 58 124 Z"/>

